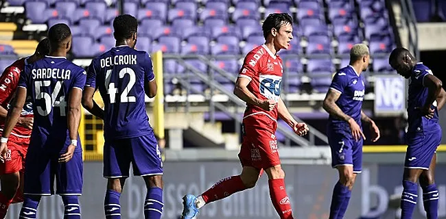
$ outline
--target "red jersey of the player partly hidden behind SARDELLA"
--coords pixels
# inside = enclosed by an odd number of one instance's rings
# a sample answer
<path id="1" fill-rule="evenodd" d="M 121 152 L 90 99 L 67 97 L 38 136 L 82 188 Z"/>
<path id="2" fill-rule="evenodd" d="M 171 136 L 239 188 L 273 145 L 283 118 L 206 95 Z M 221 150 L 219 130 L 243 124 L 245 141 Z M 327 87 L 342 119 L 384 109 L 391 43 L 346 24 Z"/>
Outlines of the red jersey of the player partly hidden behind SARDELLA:
<path id="1" fill-rule="evenodd" d="M 17 84 L 19 83 L 20 73 L 25 68 L 25 64 L 27 58 L 22 58 L 17 60 L 8 68 L 3 71 L 3 74 L 0 77 L 0 105 L 9 110 L 9 103 L 14 96 Z M 22 117 L 32 117 L 32 103 L 26 101 L 25 105 L 23 105 L 23 110 L 21 112 Z M 5 127 L 5 120 L 0 120 L 0 131 L 3 131 L 3 127 Z M 22 127 L 16 125 L 14 129 L 12 129 L 11 135 L 17 136 L 19 138 L 30 138 L 32 129 L 28 129 L 26 127 Z"/>

